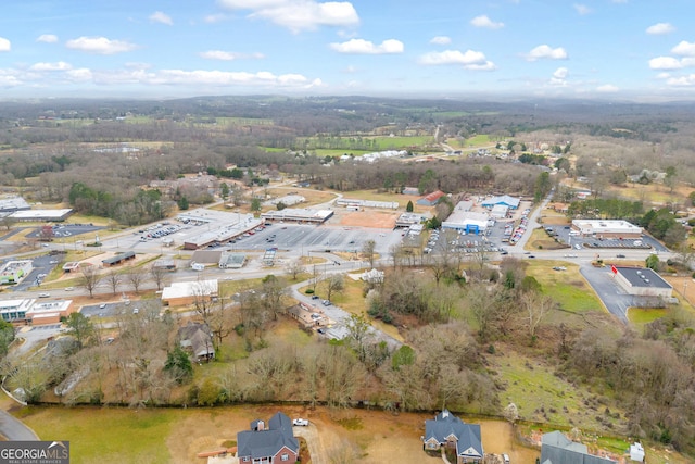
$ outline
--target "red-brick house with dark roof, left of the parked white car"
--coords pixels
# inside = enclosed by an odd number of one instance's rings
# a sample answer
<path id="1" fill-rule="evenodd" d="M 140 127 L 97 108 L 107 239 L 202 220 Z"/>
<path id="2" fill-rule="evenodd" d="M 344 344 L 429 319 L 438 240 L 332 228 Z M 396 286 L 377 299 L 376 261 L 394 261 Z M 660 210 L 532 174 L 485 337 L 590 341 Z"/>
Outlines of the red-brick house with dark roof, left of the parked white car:
<path id="1" fill-rule="evenodd" d="M 249 464 L 293 464 L 300 453 L 292 421 L 278 412 L 266 427 L 263 421 L 251 423 L 251 430 L 237 434 L 237 457 Z"/>

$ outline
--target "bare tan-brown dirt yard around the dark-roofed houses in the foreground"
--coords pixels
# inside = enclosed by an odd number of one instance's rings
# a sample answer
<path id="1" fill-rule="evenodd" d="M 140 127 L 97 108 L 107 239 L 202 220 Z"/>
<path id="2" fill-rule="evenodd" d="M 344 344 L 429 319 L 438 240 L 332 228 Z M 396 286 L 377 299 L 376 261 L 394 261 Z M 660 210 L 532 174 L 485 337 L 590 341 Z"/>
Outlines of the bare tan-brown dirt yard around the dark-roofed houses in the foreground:
<path id="1" fill-rule="evenodd" d="M 277 406 L 235 406 L 208 410 L 204 421 L 200 414 L 182 418 L 166 440 L 174 462 L 194 462 L 197 453 L 219 448 L 225 440 L 236 439 L 237 431 L 248 429 L 251 421 L 267 419 L 278 410 Z M 308 418 L 309 428 L 318 431 L 318 449 L 324 455 L 312 459 L 313 463 L 331 462 L 331 456 L 352 457 L 350 462 L 363 464 L 441 462 L 439 456 L 428 459 L 422 451 L 420 437 L 425 432 L 425 421 L 432 418 L 429 414 L 394 415 L 382 411 L 303 406 L 282 406 L 281 410 L 290 417 Z M 464 419 L 481 424 L 486 452 L 507 453 L 514 462 L 534 462 L 539 456 L 536 450 L 514 442 L 511 426 L 506 422 Z"/>

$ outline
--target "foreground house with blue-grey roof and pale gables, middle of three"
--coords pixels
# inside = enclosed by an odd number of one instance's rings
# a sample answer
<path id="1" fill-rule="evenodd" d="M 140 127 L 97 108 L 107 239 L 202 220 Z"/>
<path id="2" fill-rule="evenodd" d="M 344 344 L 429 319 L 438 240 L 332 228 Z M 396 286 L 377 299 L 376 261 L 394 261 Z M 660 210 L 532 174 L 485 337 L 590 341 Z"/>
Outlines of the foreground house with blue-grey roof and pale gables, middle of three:
<path id="1" fill-rule="evenodd" d="M 466 424 L 447 410 L 425 421 L 425 450 L 456 449 L 456 464 L 482 463 L 484 451 L 479 424 Z"/>

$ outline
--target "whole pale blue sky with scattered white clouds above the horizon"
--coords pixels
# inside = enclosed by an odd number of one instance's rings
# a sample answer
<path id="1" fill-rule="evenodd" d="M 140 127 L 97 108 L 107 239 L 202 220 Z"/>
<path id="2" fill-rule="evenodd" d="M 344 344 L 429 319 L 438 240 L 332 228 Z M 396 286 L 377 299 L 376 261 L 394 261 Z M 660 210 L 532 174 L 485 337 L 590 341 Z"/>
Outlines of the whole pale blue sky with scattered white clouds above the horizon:
<path id="1" fill-rule="evenodd" d="M 0 99 L 695 99 L 693 0 L 23 0 Z"/>

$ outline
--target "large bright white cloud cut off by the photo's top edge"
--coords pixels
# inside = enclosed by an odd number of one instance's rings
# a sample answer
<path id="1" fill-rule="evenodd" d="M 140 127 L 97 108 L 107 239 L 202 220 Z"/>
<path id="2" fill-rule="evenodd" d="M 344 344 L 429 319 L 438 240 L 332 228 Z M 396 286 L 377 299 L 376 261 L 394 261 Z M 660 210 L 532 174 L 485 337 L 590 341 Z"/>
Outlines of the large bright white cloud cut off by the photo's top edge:
<path id="1" fill-rule="evenodd" d="M 350 2 L 315 0 L 219 0 L 230 10 L 251 10 L 250 17 L 262 17 L 294 33 L 319 26 L 356 26 L 357 11 Z"/>

